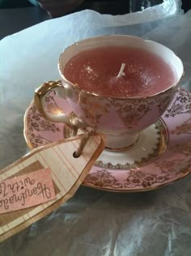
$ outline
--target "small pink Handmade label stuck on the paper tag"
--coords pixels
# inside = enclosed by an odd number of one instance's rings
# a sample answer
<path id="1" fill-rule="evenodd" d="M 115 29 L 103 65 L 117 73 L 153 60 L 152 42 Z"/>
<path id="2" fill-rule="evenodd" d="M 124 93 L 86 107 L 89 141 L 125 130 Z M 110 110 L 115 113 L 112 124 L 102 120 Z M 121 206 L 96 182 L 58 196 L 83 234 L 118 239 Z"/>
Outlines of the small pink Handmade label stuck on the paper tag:
<path id="1" fill-rule="evenodd" d="M 49 168 L 0 182 L 0 214 L 36 206 L 54 198 Z"/>

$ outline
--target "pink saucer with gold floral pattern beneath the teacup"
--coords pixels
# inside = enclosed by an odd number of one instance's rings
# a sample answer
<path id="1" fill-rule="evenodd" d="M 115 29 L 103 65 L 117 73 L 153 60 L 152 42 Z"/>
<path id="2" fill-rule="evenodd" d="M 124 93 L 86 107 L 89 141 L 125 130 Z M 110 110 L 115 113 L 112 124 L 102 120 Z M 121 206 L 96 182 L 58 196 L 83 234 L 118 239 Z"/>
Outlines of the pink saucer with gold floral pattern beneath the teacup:
<path id="1" fill-rule="evenodd" d="M 46 102 L 49 111 L 60 108 L 71 113 L 54 92 Z M 70 137 L 70 129 L 45 120 L 32 102 L 24 115 L 24 137 L 33 149 Z M 136 145 L 123 152 L 104 150 L 83 184 L 114 192 L 147 191 L 180 180 L 190 171 L 191 94 L 179 89 L 162 118 L 140 132 Z"/>

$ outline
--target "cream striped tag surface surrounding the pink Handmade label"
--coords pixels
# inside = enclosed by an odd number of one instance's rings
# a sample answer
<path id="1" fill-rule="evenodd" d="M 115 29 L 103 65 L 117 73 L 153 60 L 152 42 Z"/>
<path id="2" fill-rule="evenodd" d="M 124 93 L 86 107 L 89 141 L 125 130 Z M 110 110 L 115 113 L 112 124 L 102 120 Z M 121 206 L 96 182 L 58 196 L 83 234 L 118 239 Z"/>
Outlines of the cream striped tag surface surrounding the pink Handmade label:
<path id="1" fill-rule="evenodd" d="M 95 135 L 87 141 L 83 154 L 79 158 L 74 158 L 73 153 L 78 148 L 82 136 L 53 142 L 32 150 L 28 155 L 0 170 L 1 183 L 2 180 L 49 168 L 56 196 L 55 199 L 38 206 L 1 214 L 0 241 L 48 215 L 74 195 L 96 158 L 104 150 L 103 138 Z"/>

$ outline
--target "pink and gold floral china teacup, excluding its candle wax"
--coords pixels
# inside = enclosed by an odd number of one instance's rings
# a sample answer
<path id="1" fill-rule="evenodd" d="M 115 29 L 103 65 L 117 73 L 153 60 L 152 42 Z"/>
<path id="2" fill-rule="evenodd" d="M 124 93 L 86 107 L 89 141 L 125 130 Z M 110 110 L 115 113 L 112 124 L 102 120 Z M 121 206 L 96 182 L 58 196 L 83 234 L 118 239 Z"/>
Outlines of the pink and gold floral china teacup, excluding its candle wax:
<path id="1" fill-rule="evenodd" d="M 133 46 L 151 53 L 159 54 L 176 72 L 176 79 L 167 89 L 148 97 L 112 98 L 103 97 L 80 89 L 67 80 L 63 73 L 66 63 L 79 52 L 100 46 Z M 125 150 L 134 145 L 138 134 L 151 124 L 154 124 L 176 93 L 178 83 L 183 76 L 184 67 L 181 60 L 169 50 L 155 41 L 143 40 L 140 37 L 122 35 L 91 37 L 66 48 L 61 54 L 58 70 L 62 77 L 62 85 L 50 82 L 41 85 L 35 92 L 35 102 L 38 110 L 46 119 L 53 122 L 63 122 L 74 128 L 91 126 L 106 136 L 106 149 Z M 79 122 L 73 124 L 70 118 L 59 113 L 53 115 L 45 110 L 45 95 L 54 89 L 57 95 L 66 98 L 71 110 L 78 116 Z"/>

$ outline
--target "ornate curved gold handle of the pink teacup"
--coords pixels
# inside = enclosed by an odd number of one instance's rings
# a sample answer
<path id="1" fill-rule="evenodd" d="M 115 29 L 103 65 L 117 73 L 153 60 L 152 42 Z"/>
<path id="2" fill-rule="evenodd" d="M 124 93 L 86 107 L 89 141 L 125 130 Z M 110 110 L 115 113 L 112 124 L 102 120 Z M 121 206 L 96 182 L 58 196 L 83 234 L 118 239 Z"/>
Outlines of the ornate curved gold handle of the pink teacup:
<path id="1" fill-rule="evenodd" d="M 78 130 L 78 126 L 73 124 L 70 121 L 68 115 L 63 112 L 59 112 L 59 114 L 53 114 L 45 109 L 45 97 L 50 90 L 54 90 L 57 93 L 58 97 L 65 98 L 65 88 L 62 86 L 61 81 L 49 81 L 43 85 L 40 85 L 39 88 L 35 90 L 34 101 L 37 107 L 37 110 L 40 112 L 45 119 L 49 119 L 49 121 L 54 123 L 65 123 L 70 126 L 70 128 L 74 129 L 76 132 Z"/>

